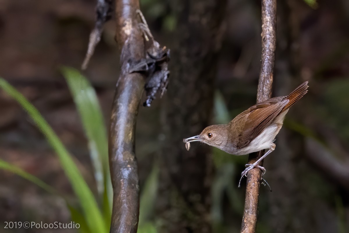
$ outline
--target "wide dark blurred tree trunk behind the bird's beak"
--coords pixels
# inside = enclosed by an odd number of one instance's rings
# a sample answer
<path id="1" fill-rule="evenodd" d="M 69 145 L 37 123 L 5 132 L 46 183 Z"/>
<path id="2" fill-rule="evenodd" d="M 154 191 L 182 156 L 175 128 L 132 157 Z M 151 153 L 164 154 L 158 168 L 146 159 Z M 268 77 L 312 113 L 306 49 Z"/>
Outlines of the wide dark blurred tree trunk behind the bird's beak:
<path id="1" fill-rule="evenodd" d="M 157 214 L 160 232 L 210 232 L 211 158 L 207 146 L 183 138 L 209 125 L 217 51 L 226 1 L 176 1 L 177 28 L 171 47 L 171 77 L 164 103 L 165 143 Z"/>

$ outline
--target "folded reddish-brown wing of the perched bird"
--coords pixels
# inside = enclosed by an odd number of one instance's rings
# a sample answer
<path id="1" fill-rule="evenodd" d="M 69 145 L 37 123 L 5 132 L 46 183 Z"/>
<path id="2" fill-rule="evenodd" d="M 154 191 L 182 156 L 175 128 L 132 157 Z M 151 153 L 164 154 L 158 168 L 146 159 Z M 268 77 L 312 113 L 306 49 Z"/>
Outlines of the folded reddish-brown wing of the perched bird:
<path id="1" fill-rule="evenodd" d="M 288 99 L 284 98 L 285 96 L 279 96 L 257 103 L 240 114 L 242 115 L 240 118 L 245 119 L 245 121 L 240 122 L 245 123 L 239 126 L 240 134 L 236 138 L 236 146 L 238 148 L 247 146 L 250 141 L 256 138 L 279 115 L 284 106 L 289 102 Z"/>

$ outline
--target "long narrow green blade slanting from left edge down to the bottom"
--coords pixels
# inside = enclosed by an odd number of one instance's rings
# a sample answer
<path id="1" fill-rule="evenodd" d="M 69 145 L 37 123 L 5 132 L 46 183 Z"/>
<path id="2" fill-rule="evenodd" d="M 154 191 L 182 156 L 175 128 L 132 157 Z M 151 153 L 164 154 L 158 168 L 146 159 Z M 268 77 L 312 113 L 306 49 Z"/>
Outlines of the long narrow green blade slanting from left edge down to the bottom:
<path id="1" fill-rule="evenodd" d="M 67 149 L 62 144 L 58 136 L 54 133 L 51 126 L 45 121 L 34 105 L 32 105 L 20 92 L 18 92 L 13 86 L 2 78 L 0 78 L 0 87 L 5 90 L 8 95 L 13 97 L 25 111 L 28 112 L 29 116 L 57 153 L 62 168 L 67 175 L 76 196 L 79 198 L 84 216 L 91 232 L 107 232 L 107 226 L 102 218 L 102 213 L 98 208 L 91 189 L 83 179 L 72 156 L 68 153 Z"/>

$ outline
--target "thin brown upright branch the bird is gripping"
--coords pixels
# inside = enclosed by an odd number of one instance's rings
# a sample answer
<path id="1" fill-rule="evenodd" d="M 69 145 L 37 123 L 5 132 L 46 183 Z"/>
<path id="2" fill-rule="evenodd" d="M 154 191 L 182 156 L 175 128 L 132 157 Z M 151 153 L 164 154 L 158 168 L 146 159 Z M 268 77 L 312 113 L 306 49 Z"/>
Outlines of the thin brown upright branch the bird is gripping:
<path id="1" fill-rule="evenodd" d="M 273 69 L 276 46 L 276 0 L 262 0 L 262 59 L 259 83 L 257 90 L 257 103 L 269 99 L 272 95 Z M 254 163 L 264 151 L 252 153 L 248 163 Z M 262 171 L 253 168 L 247 173 L 246 196 L 244 216 L 241 232 L 255 232 L 258 215 L 259 187 Z"/>

